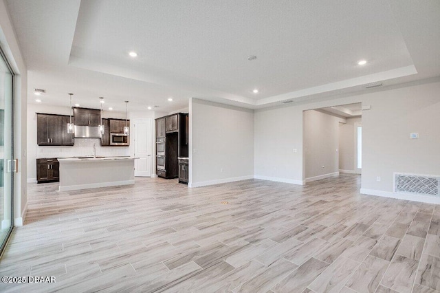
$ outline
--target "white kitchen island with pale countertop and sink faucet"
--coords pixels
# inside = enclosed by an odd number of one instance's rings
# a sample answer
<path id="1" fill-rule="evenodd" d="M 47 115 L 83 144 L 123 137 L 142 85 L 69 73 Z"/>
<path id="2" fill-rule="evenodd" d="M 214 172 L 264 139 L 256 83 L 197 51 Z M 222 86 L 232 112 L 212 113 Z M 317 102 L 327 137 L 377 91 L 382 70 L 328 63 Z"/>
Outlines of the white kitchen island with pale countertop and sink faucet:
<path id="1" fill-rule="evenodd" d="M 59 191 L 135 184 L 133 157 L 58 158 Z"/>

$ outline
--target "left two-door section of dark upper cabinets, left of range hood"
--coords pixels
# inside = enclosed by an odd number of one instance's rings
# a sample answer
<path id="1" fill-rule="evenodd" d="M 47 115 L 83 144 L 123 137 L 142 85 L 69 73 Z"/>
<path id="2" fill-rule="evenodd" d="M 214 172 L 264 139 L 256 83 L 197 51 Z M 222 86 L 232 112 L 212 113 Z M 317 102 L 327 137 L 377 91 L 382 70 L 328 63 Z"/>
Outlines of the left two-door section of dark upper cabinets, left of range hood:
<path id="1" fill-rule="evenodd" d="M 37 144 L 41 146 L 63 145 L 63 116 L 37 113 L 36 129 Z"/>

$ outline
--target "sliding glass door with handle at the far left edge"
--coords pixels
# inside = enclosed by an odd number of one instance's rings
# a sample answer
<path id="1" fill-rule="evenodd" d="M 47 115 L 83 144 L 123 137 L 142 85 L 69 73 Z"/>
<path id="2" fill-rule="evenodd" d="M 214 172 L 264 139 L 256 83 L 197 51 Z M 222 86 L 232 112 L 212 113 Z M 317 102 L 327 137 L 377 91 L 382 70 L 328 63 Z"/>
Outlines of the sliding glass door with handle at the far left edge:
<path id="1" fill-rule="evenodd" d="M 14 75 L 0 48 L 0 252 L 12 230 L 12 97 Z"/>

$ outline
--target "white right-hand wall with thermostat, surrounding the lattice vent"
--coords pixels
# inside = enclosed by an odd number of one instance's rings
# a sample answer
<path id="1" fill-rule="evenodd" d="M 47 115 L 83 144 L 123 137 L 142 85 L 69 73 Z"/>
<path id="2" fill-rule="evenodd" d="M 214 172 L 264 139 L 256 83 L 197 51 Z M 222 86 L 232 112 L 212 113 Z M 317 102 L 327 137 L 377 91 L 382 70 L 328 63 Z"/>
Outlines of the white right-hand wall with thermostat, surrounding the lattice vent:
<path id="1" fill-rule="evenodd" d="M 363 96 L 362 105 L 371 105 L 362 112 L 365 193 L 391 193 L 394 172 L 440 175 L 439 93 L 437 82 Z"/>

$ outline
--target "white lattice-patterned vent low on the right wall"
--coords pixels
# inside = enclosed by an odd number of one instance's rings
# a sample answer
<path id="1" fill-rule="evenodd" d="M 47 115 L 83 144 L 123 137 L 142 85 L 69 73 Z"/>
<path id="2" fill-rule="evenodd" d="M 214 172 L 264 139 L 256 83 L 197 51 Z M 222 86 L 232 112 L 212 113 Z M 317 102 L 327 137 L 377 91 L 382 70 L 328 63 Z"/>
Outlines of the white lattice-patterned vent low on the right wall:
<path id="1" fill-rule="evenodd" d="M 395 192 L 440 196 L 440 177 L 395 173 Z"/>

